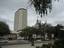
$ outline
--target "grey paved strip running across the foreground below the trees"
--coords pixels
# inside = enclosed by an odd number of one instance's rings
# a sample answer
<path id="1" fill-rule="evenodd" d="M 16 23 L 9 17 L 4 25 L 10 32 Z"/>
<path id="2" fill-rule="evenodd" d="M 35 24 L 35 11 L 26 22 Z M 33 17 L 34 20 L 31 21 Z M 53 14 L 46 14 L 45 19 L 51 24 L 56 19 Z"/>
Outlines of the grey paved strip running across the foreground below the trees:
<path id="1" fill-rule="evenodd" d="M 50 41 L 35 41 L 34 43 L 48 44 L 48 43 L 54 43 L 54 41 L 53 40 L 50 40 Z M 16 44 L 31 44 L 31 42 L 29 42 L 27 40 L 11 40 L 11 41 L 8 41 L 8 43 L 0 43 L 0 46 L 16 45 Z"/>

